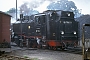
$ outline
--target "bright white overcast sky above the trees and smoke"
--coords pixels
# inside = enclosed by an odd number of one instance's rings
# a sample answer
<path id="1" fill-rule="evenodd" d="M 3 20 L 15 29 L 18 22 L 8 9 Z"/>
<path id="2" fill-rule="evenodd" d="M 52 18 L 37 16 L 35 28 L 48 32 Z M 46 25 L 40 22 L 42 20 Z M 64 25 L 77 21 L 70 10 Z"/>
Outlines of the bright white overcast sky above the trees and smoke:
<path id="1" fill-rule="evenodd" d="M 18 7 L 25 1 L 33 1 L 33 0 L 18 0 Z M 39 0 L 38 0 L 39 1 Z M 70 1 L 70 0 L 69 0 Z M 82 9 L 82 14 L 90 14 L 90 0 L 71 0 L 75 3 L 78 9 Z M 0 11 L 8 11 L 10 8 L 15 7 L 16 0 L 0 0 Z M 43 5 L 39 7 L 39 11 L 42 12 L 46 10 L 46 6 L 49 2 L 45 2 Z M 43 10 L 42 10 L 43 9 Z"/>

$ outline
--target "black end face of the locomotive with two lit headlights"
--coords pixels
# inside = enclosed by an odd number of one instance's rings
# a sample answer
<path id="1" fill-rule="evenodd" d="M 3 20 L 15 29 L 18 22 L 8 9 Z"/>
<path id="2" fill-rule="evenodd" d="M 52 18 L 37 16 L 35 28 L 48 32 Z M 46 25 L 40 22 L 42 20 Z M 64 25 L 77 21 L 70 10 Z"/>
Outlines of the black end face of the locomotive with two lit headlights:
<path id="1" fill-rule="evenodd" d="M 73 12 L 62 12 L 59 20 L 60 39 L 65 47 L 78 45 L 78 22 L 74 20 Z"/>

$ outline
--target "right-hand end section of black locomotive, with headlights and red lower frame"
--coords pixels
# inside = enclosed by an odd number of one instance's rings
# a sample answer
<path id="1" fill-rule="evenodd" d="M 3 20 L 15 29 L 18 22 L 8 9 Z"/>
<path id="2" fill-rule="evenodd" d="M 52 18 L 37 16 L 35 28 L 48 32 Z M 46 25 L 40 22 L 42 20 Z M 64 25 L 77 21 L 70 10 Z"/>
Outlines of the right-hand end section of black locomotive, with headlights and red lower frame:
<path id="1" fill-rule="evenodd" d="M 47 17 L 47 45 L 50 49 L 76 47 L 78 43 L 78 22 L 70 11 L 52 10 Z"/>

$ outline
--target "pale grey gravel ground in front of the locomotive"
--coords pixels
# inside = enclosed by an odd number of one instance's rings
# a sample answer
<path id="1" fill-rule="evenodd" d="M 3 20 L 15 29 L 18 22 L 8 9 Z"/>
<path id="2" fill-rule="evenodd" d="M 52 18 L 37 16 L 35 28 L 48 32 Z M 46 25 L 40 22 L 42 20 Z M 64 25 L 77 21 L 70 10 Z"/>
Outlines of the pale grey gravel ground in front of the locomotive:
<path id="1" fill-rule="evenodd" d="M 30 58 L 35 58 L 35 60 L 82 60 L 82 55 L 71 54 L 61 51 L 52 50 L 15 50 L 10 53 L 10 55 L 15 56 L 27 56 Z"/>

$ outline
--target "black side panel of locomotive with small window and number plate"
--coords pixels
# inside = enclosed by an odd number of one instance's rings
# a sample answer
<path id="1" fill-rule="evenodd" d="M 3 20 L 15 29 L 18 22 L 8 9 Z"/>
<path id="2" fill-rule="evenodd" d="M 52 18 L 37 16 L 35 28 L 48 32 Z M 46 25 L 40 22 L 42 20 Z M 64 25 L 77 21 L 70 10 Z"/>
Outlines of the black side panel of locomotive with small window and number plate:
<path id="1" fill-rule="evenodd" d="M 35 17 L 35 29 L 36 36 L 46 36 L 46 15 L 44 13 L 36 14 Z"/>

